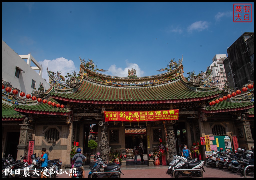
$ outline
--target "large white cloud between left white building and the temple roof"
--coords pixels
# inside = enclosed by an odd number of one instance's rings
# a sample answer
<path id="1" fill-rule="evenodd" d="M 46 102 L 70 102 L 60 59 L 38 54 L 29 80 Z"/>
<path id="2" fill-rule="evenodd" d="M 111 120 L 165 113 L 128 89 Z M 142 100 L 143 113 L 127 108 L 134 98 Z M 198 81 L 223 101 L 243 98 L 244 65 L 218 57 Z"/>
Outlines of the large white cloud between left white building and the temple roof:
<path id="1" fill-rule="evenodd" d="M 72 73 L 73 71 L 75 71 L 77 72 L 77 74 L 79 72 L 79 70 L 77 70 L 72 60 L 67 60 L 63 57 L 53 59 L 53 60 L 45 59 L 44 61 L 39 61 L 38 63 L 42 64 L 42 67 L 43 67 L 42 77 L 46 79 L 47 82 L 49 82 L 47 67 L 49 71 L 53 71 L 55 73 L 57 71 L 61 71 L 62 76 L 66 76 L 68 72 Z"/>

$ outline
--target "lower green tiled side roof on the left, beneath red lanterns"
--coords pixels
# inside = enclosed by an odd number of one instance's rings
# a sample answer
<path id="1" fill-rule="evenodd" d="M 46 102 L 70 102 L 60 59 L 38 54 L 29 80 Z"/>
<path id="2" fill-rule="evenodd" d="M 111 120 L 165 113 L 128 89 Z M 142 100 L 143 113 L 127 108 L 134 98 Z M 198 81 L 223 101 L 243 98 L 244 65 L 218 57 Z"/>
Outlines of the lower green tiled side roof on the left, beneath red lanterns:
<path id="1" fill-rule="evenodd" d="M 58 103 L 56 100 L 53 98 L 50 98 L 48 101 L 55 102 L 56 104 Z M 63 113 L 68 113 L 70 110 L 68 108 L 57 108 L 56 106 L 52 106 L 49 104 L 44 104 L 40 103 L 37 105 L 13 105 L 15 108 L 21 109 L 21 110 L 30 110 L 30 111 L 44 111 L 44 112 L 63 112 Z"/>

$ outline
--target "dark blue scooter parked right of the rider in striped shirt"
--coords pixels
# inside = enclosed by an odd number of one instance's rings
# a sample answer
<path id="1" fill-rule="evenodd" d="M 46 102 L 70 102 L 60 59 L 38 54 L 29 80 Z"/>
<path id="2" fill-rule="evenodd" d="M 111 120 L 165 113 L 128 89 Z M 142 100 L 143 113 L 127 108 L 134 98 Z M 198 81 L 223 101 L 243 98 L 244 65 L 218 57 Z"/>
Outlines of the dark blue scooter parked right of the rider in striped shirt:
<path id="1" fill-rule="evenodd" d="M 93 173 L 93 172 L 102 172 L 101 168 L 104 168 L 106 173 Z M 113 172 L 113 173 L 108 173 Z M 119 173 L 123 174 L 121 171 L 121 164 L 109 163 L 106 164 L 104 160 L 98 158 L 96 163 L 91 168 L 91 171 L 88 174 L 88 178 L 119 178 Z M 124 175 L 124 174 L 123 174 Z"/>

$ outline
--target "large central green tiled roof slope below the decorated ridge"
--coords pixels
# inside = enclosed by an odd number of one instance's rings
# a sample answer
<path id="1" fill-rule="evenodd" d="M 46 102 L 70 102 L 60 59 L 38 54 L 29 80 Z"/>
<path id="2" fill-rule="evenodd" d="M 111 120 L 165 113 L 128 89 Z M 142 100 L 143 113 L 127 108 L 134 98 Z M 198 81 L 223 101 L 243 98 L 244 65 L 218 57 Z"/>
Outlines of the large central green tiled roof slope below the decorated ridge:
<path id="1" fill-rule="evenodd" d="M 220 91 L 195 92 L 180 80 L 172 83 L 144 87 L 113 87 L 84 81 L 74 93 L 52 92 L 56 99 L 94 100 L 94 101 L 150 101 L 150 100 L 184 100 L 204 98 L 217 95 Z M 60 98 L 58 98 L 60 97 Z"/>

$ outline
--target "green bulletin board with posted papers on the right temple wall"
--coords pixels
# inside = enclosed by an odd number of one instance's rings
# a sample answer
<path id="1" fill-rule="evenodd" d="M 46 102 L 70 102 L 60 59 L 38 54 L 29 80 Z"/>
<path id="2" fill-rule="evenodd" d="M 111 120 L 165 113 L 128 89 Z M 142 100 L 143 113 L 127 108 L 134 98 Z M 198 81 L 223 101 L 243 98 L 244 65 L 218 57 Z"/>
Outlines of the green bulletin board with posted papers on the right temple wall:
<path id="1" fill-rule="evenodd" d="M 232 151 L 232 142 L 228 135 L 215 135 L 209 136 L 211 151 L 220 151 L 222 147 L 223 150 L 227 148 L 228 151 Z"/>

